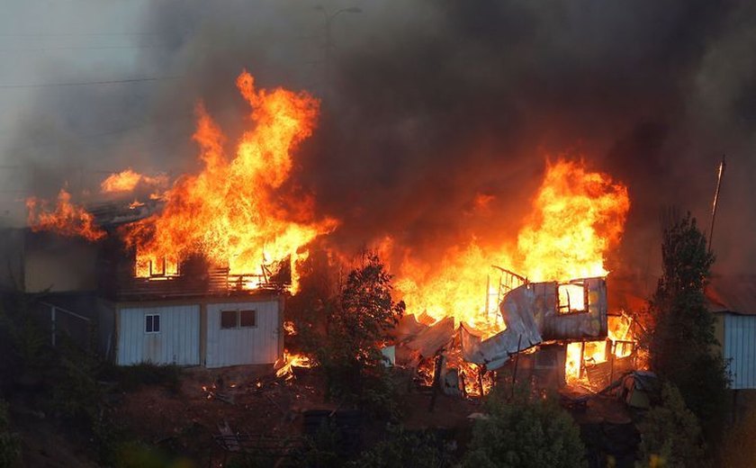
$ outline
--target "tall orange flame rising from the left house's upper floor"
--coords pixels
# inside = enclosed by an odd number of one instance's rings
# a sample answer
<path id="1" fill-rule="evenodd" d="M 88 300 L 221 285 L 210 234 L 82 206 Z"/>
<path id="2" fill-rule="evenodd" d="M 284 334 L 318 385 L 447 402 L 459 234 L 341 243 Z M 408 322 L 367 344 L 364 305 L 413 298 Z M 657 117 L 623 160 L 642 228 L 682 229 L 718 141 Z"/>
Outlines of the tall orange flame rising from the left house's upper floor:
<path id="1" fill-rule="evenodd" d="M 160 214 L 123 230 L 127 243 L 137 248 L 137 275 L 148 275 L 148 266 L 159 270 L 202 253 L 228 265 L 230 275 L 259 278 L 263 266 L 287 258 L 294 263 L 303 246 L 335 226 L 334 220 L 312 219 L 308 197 L 284 202 L 275 193 L 292 170 L 293 148 L 312 133 L 318 101 L 283 88 L 256 89 L 247 72 L 237 85 L 252 106 L 253 129 L 227 157 L 220 128 L 198 106 L 193 138 L 202 149 L 202 172 L 177 180 Z M 255 287 L 257 281 L 245 285 Z"/>

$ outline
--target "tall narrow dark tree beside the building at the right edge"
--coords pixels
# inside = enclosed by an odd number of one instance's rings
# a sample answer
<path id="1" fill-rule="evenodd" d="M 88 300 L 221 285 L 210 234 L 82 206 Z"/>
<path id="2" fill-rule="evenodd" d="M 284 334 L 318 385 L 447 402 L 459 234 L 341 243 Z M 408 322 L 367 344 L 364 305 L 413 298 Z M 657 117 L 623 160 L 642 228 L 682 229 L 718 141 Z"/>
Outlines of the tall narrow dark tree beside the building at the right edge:
<path id="1" fill-rule="evenodd" d="M 663 275 L 650 303 L 655 322 L 646 338 L 654 372 L 680 389 L 710 433 L 725 414 L 727 376 L 704 287 L 714 256 L 688 213 L 664 230 Z"/>

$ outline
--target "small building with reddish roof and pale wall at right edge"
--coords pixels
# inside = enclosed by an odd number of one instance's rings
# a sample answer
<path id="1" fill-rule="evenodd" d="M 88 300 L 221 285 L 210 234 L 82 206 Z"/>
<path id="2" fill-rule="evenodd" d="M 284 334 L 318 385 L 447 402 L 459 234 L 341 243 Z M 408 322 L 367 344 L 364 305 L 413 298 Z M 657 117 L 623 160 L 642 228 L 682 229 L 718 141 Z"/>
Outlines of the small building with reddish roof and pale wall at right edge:
<path id="1" fill-rule="evenodd" d="M 730 388 L 756 389 L 756 275 L 714 276 L 706 293 Z"/>

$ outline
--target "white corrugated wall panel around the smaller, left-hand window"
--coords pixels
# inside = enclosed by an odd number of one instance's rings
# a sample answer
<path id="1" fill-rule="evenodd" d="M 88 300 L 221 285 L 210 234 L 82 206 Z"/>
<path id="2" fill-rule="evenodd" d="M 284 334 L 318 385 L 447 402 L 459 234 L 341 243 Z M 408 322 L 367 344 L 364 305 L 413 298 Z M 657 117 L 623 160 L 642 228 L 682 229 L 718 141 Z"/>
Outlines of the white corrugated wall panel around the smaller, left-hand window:
<path id="1" fill-rule="evenodd" d="M 160 332 L 145 333 L 145 315 L 160 315 Z M 121 309 L 119 365 L 200 364 L 200 306 L 175 305 Z"/>

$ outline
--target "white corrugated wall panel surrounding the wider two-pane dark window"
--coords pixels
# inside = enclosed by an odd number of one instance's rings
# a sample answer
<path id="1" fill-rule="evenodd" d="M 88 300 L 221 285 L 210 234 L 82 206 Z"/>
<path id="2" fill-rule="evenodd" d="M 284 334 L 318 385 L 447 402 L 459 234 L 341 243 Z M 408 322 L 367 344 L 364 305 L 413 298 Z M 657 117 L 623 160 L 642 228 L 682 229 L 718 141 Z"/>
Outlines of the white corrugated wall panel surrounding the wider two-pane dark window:
<path id="1" fill-rule="evenodd" d="M 257 326 L 220 329 L 220 311 L 257 311 Z M 207 367 L 272 364 L 278 359 L 278 301 L 229 302 L 207 305 Z"/>

